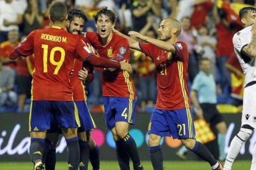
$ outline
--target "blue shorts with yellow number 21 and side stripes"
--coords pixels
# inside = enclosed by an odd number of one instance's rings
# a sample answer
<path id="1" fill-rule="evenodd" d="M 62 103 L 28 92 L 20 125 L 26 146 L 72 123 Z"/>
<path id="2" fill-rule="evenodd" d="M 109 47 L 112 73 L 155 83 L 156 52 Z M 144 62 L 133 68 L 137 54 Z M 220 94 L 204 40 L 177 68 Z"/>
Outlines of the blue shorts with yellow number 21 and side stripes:
<path id="1" fill-rule="evenodd" d="M 195 127 L 190 108 L 160 110 L 155 108 L 148 125 L 148 134 L 173 136 L 174 139 L 195 139 Z"/>

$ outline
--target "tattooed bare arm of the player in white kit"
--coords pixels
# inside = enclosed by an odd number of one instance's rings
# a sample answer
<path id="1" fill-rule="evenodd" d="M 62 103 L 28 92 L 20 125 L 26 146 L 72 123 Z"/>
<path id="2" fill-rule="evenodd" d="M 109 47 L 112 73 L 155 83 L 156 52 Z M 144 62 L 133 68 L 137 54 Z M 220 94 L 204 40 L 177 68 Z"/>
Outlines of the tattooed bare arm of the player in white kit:
<path id="1" fill-rule="evenodd" d="M 252 25 L 252 39 L 247 46 L 242 47 L 242 52 L 248 57 L 256 57 L 256 24 Z"/>

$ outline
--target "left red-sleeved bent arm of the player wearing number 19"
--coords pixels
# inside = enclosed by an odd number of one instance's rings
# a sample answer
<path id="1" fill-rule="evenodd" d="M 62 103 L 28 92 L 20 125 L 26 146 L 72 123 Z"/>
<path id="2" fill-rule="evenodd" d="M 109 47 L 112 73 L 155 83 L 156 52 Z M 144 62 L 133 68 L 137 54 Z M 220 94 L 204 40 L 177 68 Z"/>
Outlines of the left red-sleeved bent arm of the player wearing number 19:
<path id="1" fill-rule="evenodd" d="M 32 31 L 27 38 L 25 38 L 22 42 L 20 42 L 19 46 L 15 47 L 15 49 L 9 54 L 9 59 L 15 60 L 19 57 L 27 57 L 32 55 L 33 52 L 33 37 L 35 31 Z"/>

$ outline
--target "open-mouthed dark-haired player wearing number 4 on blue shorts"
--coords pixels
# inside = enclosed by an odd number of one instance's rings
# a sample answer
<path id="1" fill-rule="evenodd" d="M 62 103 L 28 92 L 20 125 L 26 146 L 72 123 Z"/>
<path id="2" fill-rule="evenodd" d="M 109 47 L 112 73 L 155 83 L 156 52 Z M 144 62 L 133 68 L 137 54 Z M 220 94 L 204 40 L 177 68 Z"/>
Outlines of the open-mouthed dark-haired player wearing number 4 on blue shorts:
<path id="1" fill-rule="evenodd" d="M 113 33 L 116 15 L 106 7 L 95 14 L 98 33 L 87 32 L 86 38 L 99 52 L 101 58 L 129 61 L 127 39 Z M 135 121 L 135 87 L 127 71 L 101 69 L 105 121 L 116 142 L 117 160 L 121 169 L 129 169 L 129 157 L 134 169 L 143 169 L 134 139 L 129 134 L 129 124 Z"/>

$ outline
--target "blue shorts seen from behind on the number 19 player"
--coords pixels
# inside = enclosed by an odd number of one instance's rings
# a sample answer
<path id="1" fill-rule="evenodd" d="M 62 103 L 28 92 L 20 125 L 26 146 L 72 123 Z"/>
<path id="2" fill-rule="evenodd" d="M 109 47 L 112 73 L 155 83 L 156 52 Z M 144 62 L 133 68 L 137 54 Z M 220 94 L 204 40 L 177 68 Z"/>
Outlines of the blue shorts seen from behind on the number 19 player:
<path id="1" fill-rule="evenodd" d="M 29 131 L 50 129 L 53 118 L 62 128 L 80 126 L 79 114 L 74 102 L 36 100 L 30 104 Z"/>

